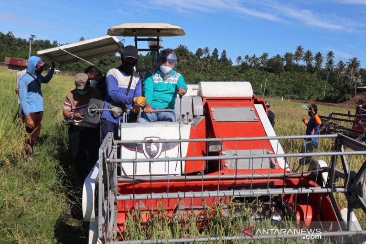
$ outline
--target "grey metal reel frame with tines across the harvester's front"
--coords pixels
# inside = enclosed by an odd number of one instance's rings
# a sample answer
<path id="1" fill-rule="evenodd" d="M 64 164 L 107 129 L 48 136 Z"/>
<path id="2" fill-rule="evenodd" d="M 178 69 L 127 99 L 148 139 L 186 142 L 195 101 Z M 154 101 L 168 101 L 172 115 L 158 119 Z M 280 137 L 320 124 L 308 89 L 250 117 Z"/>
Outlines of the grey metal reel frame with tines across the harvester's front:
<path id="1" fill-rule="evenodd" d="M 318 139 L 318 147 L 316 152 L 313 153 L 297 153 L 301 148 L 304 139 Z M 274 140 L 277 145 L 280 144 L 280 140 L 286 141 L 286 151 L 290 151 L 290 153 L 278 153 L 279 147 L 277 146 L 277 151 L 273 152 L 274 154 L 265 154 L 265 142 L 270 140 Z M 328 143 L 328 151 L 320 151 L 321 143 L 326 140 L 331 140 Z M 262 155 L 253 155 L 253 143 L 263 141 L 263 150 Z M 300 143 L 299 143 L 300 141 Z M 138 144 L 143 143 L 193 143 L 193 148 L 195 148 L 195 143 L 209 143 L 209 142 L 234 142 L 235 150 L 238 150 L 238 142 L 249 142 L 249 154 L 248 155 L 224 155 L 224 151 L 221 151 L 221 155 L 214 156 L 201 156 L 201 157 L 172 157 L 172 158 L 137 158 L 137 154 L 135 158 L 124 158 L 122 154 L 122 150 L 119 147 L 124 143 L 134 143 L 137 149 Z M 258 143 L 256 144 L 258 150 Z M 324 148 L 325 146 L 322 146 Z M 352 151 L 345 151 L 345 149 L 350 149 Z M 305 150 L 306 151 L 306 150 Z M 121 155 L 118 155 L 118 154 Z M 193 155 L 194 152 L 193 152 Z M 362 166 L 356 171 L 352 169 L 352 157 L 358 157 L 357 155 L 361 155 L 362 158 Z M 362 196 L 360 195 L 359 190 L 357 190 L 360 186 L 364 187 L 365 178 L 366 178 L 366 145 L 360 143 L 354 139 L 348 138 L 347 136 L 341 134 L 332 134 L 332 135 L 317 135 L 317 136 L 272 136 L 272 137 L 254 137 L 254 138 L 207 138 L 207 139 L 176 139 L 176 140 L 113 140 L 111 134 L 104 140 L 100 149 L 100 158 L 99 162 L 99 182 L 98 182 L 98 225 L 99 225 L 99 238 L 104 240 L 105 242 L 109 242 L 111 240 L 116 240 L 116 232 L 113 232 L 113 229 L 117 229 L 117 201 L 124 201 L 126 205 L 126 201 L 128 200 L 154 200 L 154 199 L 183 199 L 183 198 L 213 198 L 213 197 L 251 197 L 251 196 L 264 196 L 264 195 L 286 195 L 286 194 L 294 194 L 295 195 L 295 211 L 296 211 L 296 199 L 298 194 L 307 194 L 307 201 L 309 201 L 310 194 L 326 194 L 329 196 L 330 202 L 335 211 L 335 215 L 337 217 L 337 223 L 340 226 L 341 231 L 335 232 L 322 232 L 322 236 L 344 236 L 344 240 L 350 240 L 352 236 L 357 236 L 360 234 L 366 234 L 365 231 L 351 231 L 351 223 L 352 223 L 352 213 L 354 208 L 361 208 L 366 213 L 366 203 Z M 117 157 L 118 156 L 118 157 Z M 306 169 L 308 165 L 301 164 L 299 158 L 305 157 L 314 157 L 315 162 L 317 162 L 315 169 Z M 360 157 L 360 156 L 359 156 Z M 282 158 L 286 162 L 286 164 L 299 164 L 299 168 L 297 172 L 292 172 L 288 167 L 280 167 L 278 164 L 278 159 Z M 248 174 L 238 173 L 238 160 L 249 160 L 249 165 L 251 164 L 251 168 L 249 168 Z M 258 174 L 253 168 L 253 161 L 255 159 L 272 159 L 275 162 L 275 167 L 269 164 L 268 168 L 265 168 L 266 173 Z M 318 162 L 321 159 L 329 159 L 327 160 L 329 164 L 320 165 Z M 338 160 L 340 159 L 340 160 Z M 202 170 L 197 172 L 195 175 L 171 175 L 167 174 L 164 176 L 154 176 L 145 175 L 122 175 L 122 173 L 117 173 L 118 168 L 123 169 L 123 165 L 125 163 L 133 163 L 134 166 L 138 165 L 142 162 L 149 162 L 149 166 L 151 167 L 154 162 L 171 162 L 171 161 L 180 161 L 180 162 L 194 162 L 199 161 L 200 163 L 208 163 L 217 161 L 220 165 L 225 160 L 235 160 L 235 169 L 230 174 L 222 174 L 219 170 L 215 173 L 211 173 L 209 175 L 205 175 L 205 171 Z M 340 164 L 339 164 L 340 163 Z M 264 168 L 262 168 L 264 169 Z M 182 169 L 183 170 L 183 169 Z M 267 171 L 268 170 L 268 171 Z M 168 170 L 169 172 L 169 170 Z M 326 179 L 324 179 L 324 184 L 318 183 L 318 178 L 324 176 L 324 173 L 327 173 Z M 315 177 L 313 186 L 309 187 L 305 184 L 306 177 L 313 176 Z M 343 185 L 336 185 L 336 179 L 343 179 Z M 288 179 L 301 179 L 296 185 L 288 185 L 285 182 Z M 313 179 L 313 178 L 312 178 Z M 212 188 L 206 188 L 206 182 L 208 181 L 217 181 L 217 189 L 212 190 Z M 223 187 L 223 183 L 227 180 L 231 180 L 233 182 L 232 188 L 227 189 Z M 250 181 L 250 186 L 247 188 L 240 188 L 243 185 L 244 180 Z M 261 184 L 264 188 L 254 187 L 253 182 L 256 180 L 261 180 Z M 265 181 L 263 181 L 265 180 Z M 270 183 L 274 180 L 281 182 L 282 185 L 277 185 L 275 188 L 270 187 Z M 182 182 L 184 187 L 180 188 L 183 191 L 172 191 L 169 186 L 172 182 Z M 200 181 L 201 191 L 190 191 L 191 183 L 195 183 Z M 122 194 L 118 191 L 119 183 L 132 183 L 132 194 Z M 150 191 L 149 193 L 139 193 L 135 188 L 140 183 L 150 183 Z M 167 182 L 167 190 L 166 192 L 153 192 L 155 189 L 153 184 L 157 182 Z M 220 189 L 221 187 L 221 189 Z M 170 191 L 169 191 L 170 190 Z M 348 203 L 348 213 L 347 213 L 347 221 L 343 221 L 341 217 L 341 213 L 337 207 L 337 203 L 334 197 L 334 193 L 344 193 L 346 194 L 347 203 Z M 365 197 L 365 196 L 364 196 Z M 309 202 L 307 202 L 309 203 Z M 319 202 L 319 209 L 321 209 L 321 200 Z M 153 210 L 153 209 L 152 209 Z M 319 213 L 320 214 L 320 213 Z M 319 215 L 318 215 L 319 217 Z M 293 237 L 302 237 L 303 235 L 294 235 Z M 287 238 L 290 236 L 283 235 L 261 235 L 261 236 L 253 236 L 253 239 L 270 239 L 270 238 Z M 205 241 L 217 241 L 219 240 L 247 240 L 246 236 L 230 236 L 230 237 L 202 237 L 202 238 L 183 238 L 183 239 L 169 239 L 168 243 L 182 243 L 182 242 L 205 242 Z M 165 243 L 167 240 L 131 240 L 131 241 L 115 241 L 113 243 Z"/>

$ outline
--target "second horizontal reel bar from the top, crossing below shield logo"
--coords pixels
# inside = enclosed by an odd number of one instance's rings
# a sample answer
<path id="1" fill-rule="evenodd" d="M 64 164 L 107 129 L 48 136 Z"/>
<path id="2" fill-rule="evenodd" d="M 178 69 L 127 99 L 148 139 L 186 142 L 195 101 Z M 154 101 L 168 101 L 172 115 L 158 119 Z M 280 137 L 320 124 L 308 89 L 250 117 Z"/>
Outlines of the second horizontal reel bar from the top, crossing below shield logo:
<path id="1" fill-rule="evenodd" d="M 324 153 L 288 153 L 288 154 L 264 154 L 264 155 L 239 155 L 239 156 L 202 156 L 202 157 L 178 157 L 178 158 L 129 158 L 129 159 L 111 159 L 108 163 L 124 162 L 169 162 L 169 161 L 202 161 L 202 160 L 225 160 L 225 159 L 261 159 L 261 158 L 293 158 L 293 157 L 324 157 L 340 155 L 366 155 L 366 151 L 343 151 L 343 152 L 324 152 Z"/>

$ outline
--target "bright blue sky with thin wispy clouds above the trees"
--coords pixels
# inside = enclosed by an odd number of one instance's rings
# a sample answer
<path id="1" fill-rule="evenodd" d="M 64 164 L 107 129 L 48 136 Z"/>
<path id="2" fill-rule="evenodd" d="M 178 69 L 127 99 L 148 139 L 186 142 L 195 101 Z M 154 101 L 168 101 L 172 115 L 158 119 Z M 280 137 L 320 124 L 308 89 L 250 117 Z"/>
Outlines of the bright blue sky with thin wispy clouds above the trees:
<path id="1" fill-rule="evenodd" d="M 366 0 L 105 0 L 0 2 L 0 31 L 16 37 L 72 43 L 107 34 L 122 23 L 170 23 L 186 31 L 165 37 L 164 47 L 184 44 L 192 52 L 208 46 L 238 55 L 270 56 L 302 45 L 329 50 L 335 60 L 358 57 L 366 65 Z M 122 37 L 120 38 L 122 39 Z M 127 37 L 125 45 L 134 44 Z"/>

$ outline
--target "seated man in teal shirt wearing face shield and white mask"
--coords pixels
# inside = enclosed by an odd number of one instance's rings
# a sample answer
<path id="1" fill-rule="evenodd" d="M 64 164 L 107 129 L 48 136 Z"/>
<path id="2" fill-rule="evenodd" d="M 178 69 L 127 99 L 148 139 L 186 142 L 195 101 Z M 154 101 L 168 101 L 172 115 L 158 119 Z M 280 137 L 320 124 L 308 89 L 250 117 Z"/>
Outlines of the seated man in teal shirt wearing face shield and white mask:
<path id="1" fill-rule="evenodd" d="M 174 71 L 177 56 L 171 49 L 161 51 L 159 67 L 156 71 L 147 72 L 143 90 L 147 99 L 141 113 L 141 122 L 170 121 L 175 122 L 172 112 L 153 112 L 155 109 L 174 109 L 175 98 L 186 94 L 187 85 L 181 74 Z"/>

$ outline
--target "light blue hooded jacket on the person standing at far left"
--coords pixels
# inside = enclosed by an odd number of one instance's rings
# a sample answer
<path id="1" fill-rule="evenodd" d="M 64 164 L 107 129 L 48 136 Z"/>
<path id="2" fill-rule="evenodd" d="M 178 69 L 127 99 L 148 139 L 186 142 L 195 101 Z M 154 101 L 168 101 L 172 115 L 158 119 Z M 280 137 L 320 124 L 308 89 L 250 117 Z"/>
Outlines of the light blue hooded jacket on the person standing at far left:
<path id="1" fill-rule="evenodd" d="M 48 83 L 53 76 L 53 71 L 55 70 L 50 69 L 46 76 L 36 74 L 36 66 L 40 59 L 41 58 L 37 56 L 29 57 L 27 72 L 31 75 L 26 73 L 19 80 L 19 100 L 26 116 L 29 115 L 29 113 L 43 111 L 41 84 Z"/>

